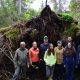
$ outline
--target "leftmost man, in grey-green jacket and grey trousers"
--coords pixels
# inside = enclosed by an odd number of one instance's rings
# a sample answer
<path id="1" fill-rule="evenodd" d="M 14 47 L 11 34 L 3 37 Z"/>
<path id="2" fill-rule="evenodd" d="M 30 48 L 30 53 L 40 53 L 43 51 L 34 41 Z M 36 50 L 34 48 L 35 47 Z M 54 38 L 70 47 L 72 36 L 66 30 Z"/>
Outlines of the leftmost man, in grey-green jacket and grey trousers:
<path id="1" fill-rule="evenodd" d="M 19 76 L 26 78 L 26 69 L 28 67 L 28 49 L 26 43 L 20 42 L 20 48 L 15 52 L 14 56 L 15 73 L 11 80 L 17 80 Z"/>

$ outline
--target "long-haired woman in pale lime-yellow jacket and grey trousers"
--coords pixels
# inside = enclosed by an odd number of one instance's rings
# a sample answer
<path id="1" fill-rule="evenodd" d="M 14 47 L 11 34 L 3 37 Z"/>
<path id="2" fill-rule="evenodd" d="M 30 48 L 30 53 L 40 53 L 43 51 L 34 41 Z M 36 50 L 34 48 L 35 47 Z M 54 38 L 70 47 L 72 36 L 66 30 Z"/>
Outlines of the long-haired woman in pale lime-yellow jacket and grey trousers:
<path id="1" fill-rule="evenodd" d="M 47 80 L 52 79 L 53 72 L 54 72 L 54 66 L 56 64 L 56 56 L 54 54 L 54 47 L 52 43 L 49 44 L 49 48 L 45 52 L 44 61 L 46 63 L 46 78 Z"/>

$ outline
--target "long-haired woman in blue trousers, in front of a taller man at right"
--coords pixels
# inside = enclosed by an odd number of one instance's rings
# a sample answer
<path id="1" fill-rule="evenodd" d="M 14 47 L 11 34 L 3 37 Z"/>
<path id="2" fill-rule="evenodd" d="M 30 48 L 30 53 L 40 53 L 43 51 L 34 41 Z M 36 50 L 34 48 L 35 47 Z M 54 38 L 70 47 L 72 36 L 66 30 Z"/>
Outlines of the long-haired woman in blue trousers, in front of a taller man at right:
<path id="1" fill-rule="evenodd" d="M 64 49 L 64 67 L 66 69 L 66 80 L 73 80 L 74 67 L 77 65 L 77 55 L 74 46 L 67 43 Z"/>

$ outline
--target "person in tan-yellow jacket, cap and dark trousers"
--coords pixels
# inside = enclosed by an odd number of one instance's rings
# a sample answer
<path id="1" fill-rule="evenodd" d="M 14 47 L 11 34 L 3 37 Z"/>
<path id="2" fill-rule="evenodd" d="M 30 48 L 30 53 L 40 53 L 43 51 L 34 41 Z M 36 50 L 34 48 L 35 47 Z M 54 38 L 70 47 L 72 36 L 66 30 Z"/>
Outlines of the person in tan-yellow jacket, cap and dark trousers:
<path id="1" fill-rule="evenodd" d="M 55 65 L 55 71 L 56 71 L 56 80 L 61 80 L 63 76 L 63 52 L 64 47 L 62 46 L 62 41 L 57 41 L 57 47 L 54 48 L 54 53 L 56 54 L 56 65 Z"/>

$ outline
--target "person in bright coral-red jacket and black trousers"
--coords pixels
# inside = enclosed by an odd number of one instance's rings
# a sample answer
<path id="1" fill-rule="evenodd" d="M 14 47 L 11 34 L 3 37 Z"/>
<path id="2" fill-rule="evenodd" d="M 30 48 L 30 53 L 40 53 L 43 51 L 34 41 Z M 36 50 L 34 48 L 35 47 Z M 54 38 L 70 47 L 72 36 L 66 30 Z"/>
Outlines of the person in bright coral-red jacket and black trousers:
<path id="1" fill-rule="evenodd" d="M 39 48 L 37 47 L 37 42 L 32 43 L 32 47 L 29 50 L 29 59 L 30 59 L 30 65 L 31 65 L 31 74 L 33 76 L 32 80 L 35 80 L 34 77 L 36 77 L 37 71 L 36 69 L 39 68 Z"/>

